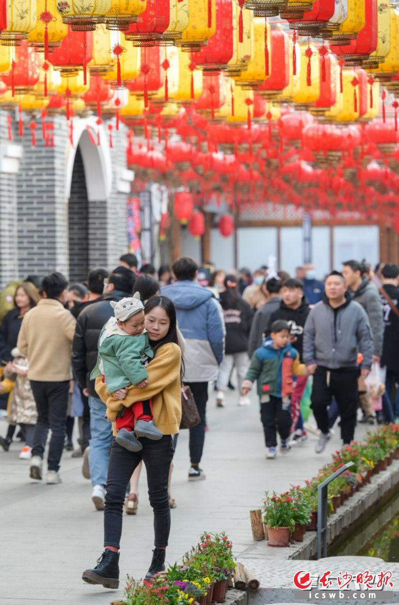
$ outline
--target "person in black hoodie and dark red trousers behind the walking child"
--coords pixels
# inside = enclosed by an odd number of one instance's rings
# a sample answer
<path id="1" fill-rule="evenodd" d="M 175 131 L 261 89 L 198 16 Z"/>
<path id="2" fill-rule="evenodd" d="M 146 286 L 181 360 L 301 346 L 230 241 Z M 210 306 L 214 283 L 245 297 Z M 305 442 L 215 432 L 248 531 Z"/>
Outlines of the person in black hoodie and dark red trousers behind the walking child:
<path id="1" fill-rule="evenodd" d="M 309 314 L 309 305 L 304 296 L 304 284 L 301 280 L 291 278 L 284 282 L 280 294 L 282 301 L 279 309 L 273 311 L 269 318 L 267 331 L 270 333 L 270 327 L 276 319 L 284 319 L 291 328 L 292 344 L 299 353 L 302 362 L 302 342 L 304 338 L 304 325 Z M 295 427 L 292 443 L 301 443 L 307 439 L 304 430 L 304 422 L 301 414 L 301 399 L 304 394 L 307 383 L 307 376 L 298 376 L 295 383 L 295 390 L 291 397 L 292 407 L 292 426 Z"/>

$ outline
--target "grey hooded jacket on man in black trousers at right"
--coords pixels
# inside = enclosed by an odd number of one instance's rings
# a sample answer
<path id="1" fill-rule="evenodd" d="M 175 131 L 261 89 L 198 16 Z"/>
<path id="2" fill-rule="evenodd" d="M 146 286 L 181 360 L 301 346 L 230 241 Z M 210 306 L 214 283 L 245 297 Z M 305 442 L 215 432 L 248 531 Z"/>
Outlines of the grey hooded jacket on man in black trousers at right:
<path id="1" fill-rule="evenodd" d="M 329 370 L 356 368 L 357 353 L 362 367 L 371 368 L 372 336 L 365 310 L 345 293 L 345 303 L 333 309 L 327 296 L 310 310 L 305 323 L 302 359 Z"/>

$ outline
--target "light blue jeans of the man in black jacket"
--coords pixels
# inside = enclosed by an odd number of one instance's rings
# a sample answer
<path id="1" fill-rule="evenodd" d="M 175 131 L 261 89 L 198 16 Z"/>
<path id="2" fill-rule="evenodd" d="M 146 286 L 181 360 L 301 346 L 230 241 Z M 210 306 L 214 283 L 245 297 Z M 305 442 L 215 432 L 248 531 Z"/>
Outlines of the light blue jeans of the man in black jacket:
<path id="1" fill-rule="evenodd" d="M 109 452 L 112 444 L 112 424 L 105 417 L 106 406 L 98 397 L 89 397 L 90 433 L 89 468 L 92 485 L 105 485 Z"/>

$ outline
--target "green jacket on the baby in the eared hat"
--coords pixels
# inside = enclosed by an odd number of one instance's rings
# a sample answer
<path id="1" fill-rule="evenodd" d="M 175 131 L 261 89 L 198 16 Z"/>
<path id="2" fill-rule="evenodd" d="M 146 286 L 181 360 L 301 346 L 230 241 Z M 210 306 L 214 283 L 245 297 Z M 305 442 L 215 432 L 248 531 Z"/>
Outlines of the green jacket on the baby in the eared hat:
<path id="1" fill-rule="evenodd" d="M 144 361 L 153 356 L 147 332 L 130 336 L 112 317 L 101 330 L 97 364 L 90 378 L 94 380 L 104 374 L 107 390 L 115 393 L 119 388 L 136 385 L 148 378 Z"/>

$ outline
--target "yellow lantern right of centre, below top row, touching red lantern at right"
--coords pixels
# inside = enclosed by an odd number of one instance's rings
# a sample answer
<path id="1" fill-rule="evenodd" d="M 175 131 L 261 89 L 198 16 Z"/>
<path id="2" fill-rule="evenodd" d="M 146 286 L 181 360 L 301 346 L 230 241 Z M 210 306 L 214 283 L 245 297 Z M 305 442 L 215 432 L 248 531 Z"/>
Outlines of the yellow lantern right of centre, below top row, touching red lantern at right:
<path id="1" fill-rule="evenodd" d="M 264 80 L 268 77 L 266 73 L 270 73 L 270 51 L 269 51 L 269 64 L 267 69 L 265 66 L 265 53 L 264 53 L 264 28 L 265 21 L 261 17 L 254 18 L 254 54 L 250 60 L 247 68 L 241 72 L 240 75 L 234 76 L 235 82 L 243 87 L 256 87 L 257 85 L 263 84 Z M 266 23 L 267 31 L 267 47 L 271 49 L 270 42 L 270 25 Z"/>

